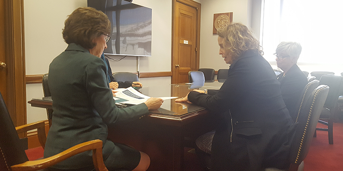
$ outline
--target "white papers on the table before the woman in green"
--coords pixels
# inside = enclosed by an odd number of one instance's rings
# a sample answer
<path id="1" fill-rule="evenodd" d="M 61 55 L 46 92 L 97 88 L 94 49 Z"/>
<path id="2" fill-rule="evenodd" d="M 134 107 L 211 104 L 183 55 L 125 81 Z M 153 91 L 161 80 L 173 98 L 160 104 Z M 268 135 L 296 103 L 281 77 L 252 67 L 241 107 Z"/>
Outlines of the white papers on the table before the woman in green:
<path id="1" fill-rule="evenodd" d="M 132 87 L 129 87 L 124 90 L 123 89 L 118 90 L 118 92 L 115 93 L 115 95 L 116 97 L 113 97 L 113 99 L 115 99 L 117 103 L 131 104 L 131 105 L 138 105 L 138 104 L 144 103 L 150 98 L 149 96 L 145 96 L 139 93 Z M 160 97 L 160 98 L 163 100 L 167 100 L 167 99 L 176 99 L 178 97 Z"/>

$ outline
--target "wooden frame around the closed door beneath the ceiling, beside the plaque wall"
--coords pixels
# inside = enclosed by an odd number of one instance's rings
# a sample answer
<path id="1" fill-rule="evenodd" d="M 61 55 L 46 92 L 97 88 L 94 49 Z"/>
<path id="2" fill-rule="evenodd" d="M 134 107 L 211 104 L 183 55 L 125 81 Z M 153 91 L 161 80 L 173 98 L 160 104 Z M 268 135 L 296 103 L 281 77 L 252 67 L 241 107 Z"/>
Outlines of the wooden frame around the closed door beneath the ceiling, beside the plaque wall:
<path id="1" fill-rule="evenodd" d="M 177 76 L 176 76 L 176 67 L 174 62 L 174 58 L 175 58 L 175 54 L 178 54 L 178 52 L 176 52 L 176 47 L 175 47 L 175 42 L 178 42 L 179 39 L 177 39 L 175 37 L 175 32 L 176 32 L 176 28 L 175 28 L 175 18 L 178 17 L 176 16 L 177 14 L 175 13 L 175 6 L 176 3 L 182 3 L 185 4 L 187 6 L 193 7 L 197 10 L 197 36 L 196 36 L 196 43 L 195 43 L 195 54 L 196 54 L 196 58 L 195 58 L 195 66 L 196 69 L 199 69 L 199 59 L 200 59 L 200 14 L 201 14 L 201 4 L 192 0 L 173 0 L 173 12 L 172 12 L 172 83 L 177 83 Z"/>

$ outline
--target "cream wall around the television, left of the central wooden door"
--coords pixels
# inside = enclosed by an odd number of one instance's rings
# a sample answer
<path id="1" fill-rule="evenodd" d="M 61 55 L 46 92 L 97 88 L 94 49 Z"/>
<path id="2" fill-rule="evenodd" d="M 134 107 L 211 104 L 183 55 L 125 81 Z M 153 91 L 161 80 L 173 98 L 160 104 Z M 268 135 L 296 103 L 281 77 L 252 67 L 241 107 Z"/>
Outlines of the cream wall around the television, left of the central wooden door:
<path id="1" fill-rule="evenodd" d="M 140 71 L 171 71 L 172 55 L 172 1 L 135 0 L 133 3 L 152 9 L 152 49 L 151 57 L 141 57 Z M 63 52 L 67 44 L 62 37 L 62 29 L 67 16 L 79 7 L 87 7 L 87 0 L 25 0 L 25 57 L 26 74 L 44 74 L 52 59 Z M 118 59 L 116 56 L 113 58 Z M 136 57 L 126 57 L 119 62 L 111 62 L 116 71 L 137 71 Z M 170 77 L 140 78 L 144 86 L 168 84 Z M 41 84 L 27 84 L 26 99 L 43 97 Z M 46 120 L 45 109 L 27 104 L 27 123 Z"/>

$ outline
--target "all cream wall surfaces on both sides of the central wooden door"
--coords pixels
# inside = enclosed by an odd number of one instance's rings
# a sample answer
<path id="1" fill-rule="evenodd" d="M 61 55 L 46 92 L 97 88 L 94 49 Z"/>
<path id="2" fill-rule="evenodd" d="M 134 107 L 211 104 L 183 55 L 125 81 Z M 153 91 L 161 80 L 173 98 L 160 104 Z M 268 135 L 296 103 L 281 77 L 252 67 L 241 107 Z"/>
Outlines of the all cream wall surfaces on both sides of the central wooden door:
<path id="1" fill-rule="evenodd" d="M 213 14 L 234 12 L 233 21 L 254 25 L 254 1 L 260 0 L 196 0 L 201 3 L 200 67 L 218 70 L 228 68 L 218 54 L 217 36 L 212 34 Z M 133 3 L 152 9 L 151 57 L 141 57 L 141 72 L 171 71 L 172 0 L 134 0 Z M 26 74 L 48 72 L 52 59 L 65 50 L 62 29 L 67 16 L 87 0 L 24 0 Z M 258 10 L 257 10 L 258 11 Z M 110 56 L 119 59 L 118 56 Z M 136 57 L 110 61 L 116 71 L 137 71 Z M 140 78 L 144 86 L 167 84 L 170 77 Z M 43 97 L 41 84 L 27 84 L 27 101 Z M 27 105 L 27 123 L 45 120 L 45 109 Z"/>

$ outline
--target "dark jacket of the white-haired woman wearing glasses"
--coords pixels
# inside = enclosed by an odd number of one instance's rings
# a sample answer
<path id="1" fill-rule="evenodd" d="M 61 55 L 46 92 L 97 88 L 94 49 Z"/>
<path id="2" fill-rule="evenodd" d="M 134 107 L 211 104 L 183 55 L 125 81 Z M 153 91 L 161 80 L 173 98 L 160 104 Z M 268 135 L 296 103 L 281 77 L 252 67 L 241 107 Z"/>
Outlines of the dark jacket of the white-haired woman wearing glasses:
<path id="1" fill-rule="evenodd" d="M 297 64 L 293 65 L 283 76 L 283 72 L 277 75 L 280 82 L 281 95 L 293 121 L 296 121 L 298 103 L 303 96 L 302 92 L 307 84 L 307 78 Z"/>

